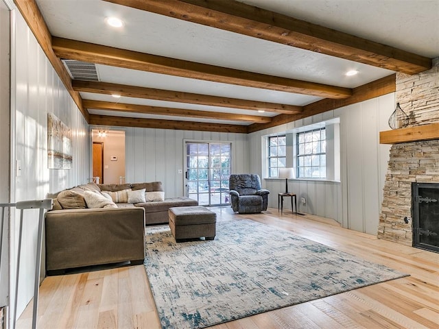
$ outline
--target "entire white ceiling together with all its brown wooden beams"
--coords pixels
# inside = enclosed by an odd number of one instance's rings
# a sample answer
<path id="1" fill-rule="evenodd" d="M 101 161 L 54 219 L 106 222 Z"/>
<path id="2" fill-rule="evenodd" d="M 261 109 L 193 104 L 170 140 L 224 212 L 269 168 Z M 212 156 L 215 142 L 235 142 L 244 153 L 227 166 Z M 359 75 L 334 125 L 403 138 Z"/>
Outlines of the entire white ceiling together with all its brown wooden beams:
<path id="1" fill-rule="evenodd" d="M 392 93 L 439 56 L 438 0 L 14 2 L 91 125 L 256 132 Z"/>

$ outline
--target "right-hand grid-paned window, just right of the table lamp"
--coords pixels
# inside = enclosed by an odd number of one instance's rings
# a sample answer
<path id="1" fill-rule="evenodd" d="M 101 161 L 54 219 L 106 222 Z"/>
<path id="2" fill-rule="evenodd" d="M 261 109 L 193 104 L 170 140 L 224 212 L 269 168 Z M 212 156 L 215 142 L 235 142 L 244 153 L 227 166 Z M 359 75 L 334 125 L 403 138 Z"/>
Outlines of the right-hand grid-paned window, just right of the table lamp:
<path id="1" fill-rule="evenodd" d="M 298 178 L 327 177 L 327 141 L 324 128 L 297 134 Z"/>

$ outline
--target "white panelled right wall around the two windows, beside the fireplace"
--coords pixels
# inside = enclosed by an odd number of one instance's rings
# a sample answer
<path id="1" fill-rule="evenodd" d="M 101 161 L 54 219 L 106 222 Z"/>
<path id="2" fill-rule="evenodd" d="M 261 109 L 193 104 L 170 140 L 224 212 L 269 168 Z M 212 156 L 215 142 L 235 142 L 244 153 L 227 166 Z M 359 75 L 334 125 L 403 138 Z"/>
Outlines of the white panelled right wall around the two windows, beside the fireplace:
<path id="1" fill-rule="evenodd" d="M 394 107 L 394 93 L 391 93 L 249 134 L 249 169 L 263 177 L 262 161 L 266 158 L 263 136 L 340 117 L 340 182 L 291 180 L 289 191 L 297 193 L 301 212 L 335 219 L 345 228 L 377 234 L 390 150 L 389 145 L 379 144 L 379 132 L 390 129 L 388 118 Z M 269 206 L 277 208 L 277 194 L 285 190 L 285 181 L 265 179 L 263 185 L 271 192 Z M 307 204 L 300 204 L 300 197 L 306 197 Z M 285 208 L 291 209 L 289 201 Z"/>

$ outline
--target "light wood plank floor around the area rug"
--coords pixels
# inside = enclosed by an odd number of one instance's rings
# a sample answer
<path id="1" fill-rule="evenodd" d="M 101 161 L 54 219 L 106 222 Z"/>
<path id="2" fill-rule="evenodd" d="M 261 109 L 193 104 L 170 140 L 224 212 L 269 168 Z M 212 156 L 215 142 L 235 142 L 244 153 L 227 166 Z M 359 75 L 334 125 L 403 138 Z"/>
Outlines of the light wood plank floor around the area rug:
<path id="1" fill-rule="evenodd" d="M 439 254 L 346 230 L 330 219 L 292 215 L 291 210 L 281 217 L 273 208 L 262 215 L 211 209 L 219 221 L 252 219 L 411 274 L 211 328 L 439 328 Z M 17 328 L 31 328 L 31 317 L 32 302 Z M 161 326 L 145 269 L 139 265 L 45 278 L 40 288 L 38 328 Z"/>

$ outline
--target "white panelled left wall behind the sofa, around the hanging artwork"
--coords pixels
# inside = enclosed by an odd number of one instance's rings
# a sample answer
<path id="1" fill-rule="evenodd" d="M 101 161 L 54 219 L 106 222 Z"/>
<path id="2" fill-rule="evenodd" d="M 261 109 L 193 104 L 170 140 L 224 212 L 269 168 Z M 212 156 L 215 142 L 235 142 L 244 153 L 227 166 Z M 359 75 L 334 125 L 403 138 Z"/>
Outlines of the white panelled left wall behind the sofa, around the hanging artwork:
<path id="1" fill-rule="evenodd" d="M 12 163 L 21 160 L 22 170 L 15 177 L 12 167 L 13 202 L 44 199 L 47 193 L 86 183 L 91 176 L 88 124 L 47 60 L 36 38 L 18 10 L 12 38 L 15 53 L 12 67 Z M 73 131 L 73 165 L 70 170 L 47 168 L 47 113 L 56 115 Z M 19 212 L 12 219 L 11 278 L 15 278 Z M 18 312 L 33 296 L 38 210 L 26 210 L 19 276 Z M 44 265 L 44 259 L 43 259 Z M 44 269 L 43 269 L 44 272 Z M 13 283 L 13 282 L 12 282 Z M 11 291 L 14 291 L 12 284 Z M 11 305 L 14 301 L 11 300 Z"/>

